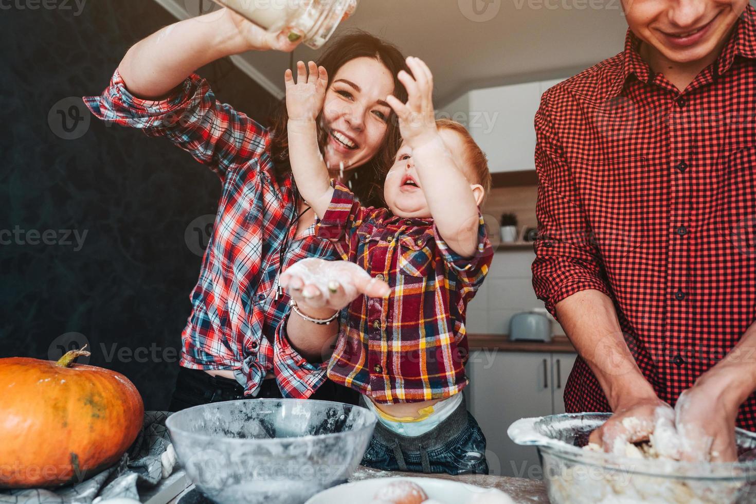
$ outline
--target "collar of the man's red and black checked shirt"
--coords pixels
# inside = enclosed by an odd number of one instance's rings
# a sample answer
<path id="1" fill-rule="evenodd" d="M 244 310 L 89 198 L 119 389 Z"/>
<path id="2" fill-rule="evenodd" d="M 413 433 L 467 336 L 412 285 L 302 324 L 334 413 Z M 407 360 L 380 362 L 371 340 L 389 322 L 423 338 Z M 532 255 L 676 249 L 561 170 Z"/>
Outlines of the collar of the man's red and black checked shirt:
<path id="1" fill-rule="evenodd" d="M 624 39 L 624 51 L 622 52 L 622 69 L 616 81 L 612 85 L 612 95 L 618 94 L 623 88 L 627 78 L 634 75 L 641 82 L 648 83 L 654 73 L 643 57 L 640 56 L 640 39 L 631 29 L 627 30 Z M 736 24 L 735 31 L 727 42 L 716 63 L 719 75 L 726 73 L 733 65 L 736 56 L 756 59 L 756 9 L 748 5 L 741 19 Z"/>

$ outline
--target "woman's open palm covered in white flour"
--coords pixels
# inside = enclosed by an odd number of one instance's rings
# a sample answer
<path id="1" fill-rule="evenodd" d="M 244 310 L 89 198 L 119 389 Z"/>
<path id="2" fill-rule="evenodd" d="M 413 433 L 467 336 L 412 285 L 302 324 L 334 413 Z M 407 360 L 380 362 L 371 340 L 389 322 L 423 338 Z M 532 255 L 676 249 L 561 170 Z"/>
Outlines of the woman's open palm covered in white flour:
<path id="1" fill-rule="evenodd" d="M 293 264 L 280 276 L 280 286 L 287 289 L 299 308 L 321 311 L 342 310 L 360 295 L 380 298 L 389 295 L 389 284 L 370 277 L 349 261 L 325 261 L 306 258 Z"/>

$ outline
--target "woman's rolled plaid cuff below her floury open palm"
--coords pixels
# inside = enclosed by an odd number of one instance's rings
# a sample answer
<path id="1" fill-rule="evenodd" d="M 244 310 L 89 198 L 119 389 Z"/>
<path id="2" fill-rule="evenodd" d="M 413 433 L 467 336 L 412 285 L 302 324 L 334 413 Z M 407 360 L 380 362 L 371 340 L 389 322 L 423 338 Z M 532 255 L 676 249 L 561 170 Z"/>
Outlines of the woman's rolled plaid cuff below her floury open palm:
<path id="1" fill-rule="evenodd" d="M 310 363 L 294 349 L 287 336 L 288 321 L 288 315 L 283 317 L 276 330 L 273 372 L 283 397 L 308 399 L 326 381 L 328 363 Z"/>

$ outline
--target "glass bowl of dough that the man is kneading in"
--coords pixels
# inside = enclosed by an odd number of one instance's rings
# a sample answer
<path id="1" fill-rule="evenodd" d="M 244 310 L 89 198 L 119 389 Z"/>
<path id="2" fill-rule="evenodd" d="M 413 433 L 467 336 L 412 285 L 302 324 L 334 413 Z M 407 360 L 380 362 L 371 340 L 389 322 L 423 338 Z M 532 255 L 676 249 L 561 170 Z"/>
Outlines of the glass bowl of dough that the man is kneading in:
<path id="1" fill-rule="evenodd" d="M 552 504 L 730 504 L 756 502 L 756 434 L 737 429 L 738 462 L 634 459 L 583 450 L 608 413 L 522 419 L 507 434 L 538 447 Z"/>

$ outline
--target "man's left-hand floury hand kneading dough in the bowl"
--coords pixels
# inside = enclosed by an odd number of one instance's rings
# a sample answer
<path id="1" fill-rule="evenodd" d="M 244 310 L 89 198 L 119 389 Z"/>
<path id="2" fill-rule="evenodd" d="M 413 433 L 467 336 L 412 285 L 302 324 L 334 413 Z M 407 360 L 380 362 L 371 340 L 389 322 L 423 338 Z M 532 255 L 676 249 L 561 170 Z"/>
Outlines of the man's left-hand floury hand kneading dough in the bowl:
<path id="1" fill-rule="evenodd" d="M 614 415 L 590 434 L 589 441 L 606 453 L 624 456 L 628 443 L 649 441 L 652 436 L 660 454 L 680 458 L 674 410 L 658 397 L 643 397 L 620 404 Z"/>

